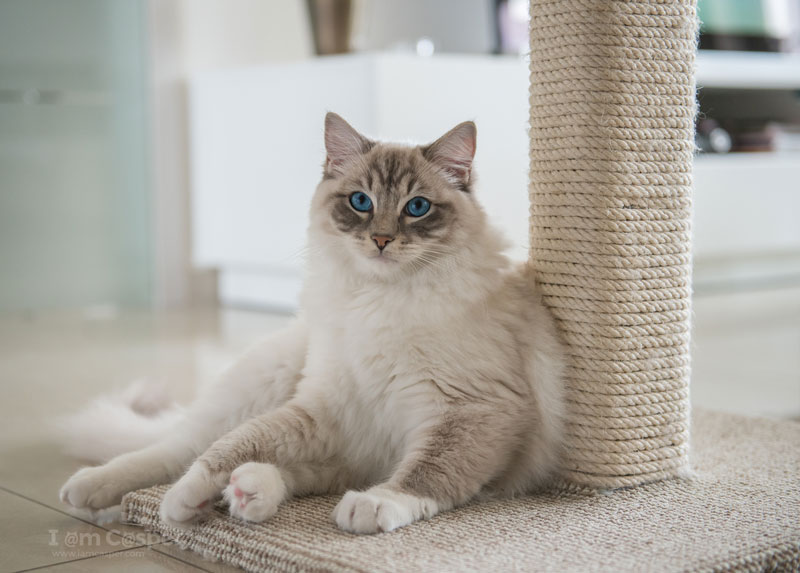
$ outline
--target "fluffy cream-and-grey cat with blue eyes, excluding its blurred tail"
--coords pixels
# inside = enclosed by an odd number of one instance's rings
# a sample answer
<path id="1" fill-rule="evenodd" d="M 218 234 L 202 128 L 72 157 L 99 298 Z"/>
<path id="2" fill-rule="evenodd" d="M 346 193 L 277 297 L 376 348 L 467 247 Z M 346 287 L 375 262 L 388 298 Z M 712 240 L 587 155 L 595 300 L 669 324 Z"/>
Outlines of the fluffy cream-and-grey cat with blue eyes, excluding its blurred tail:
<path id="1" fill-rule="evenodd" d="M 299 315 L 61 499 L 97 510 L 179 478 L 161 518 L 191 526 L 220 494 L 261 522 L 291 496 L 344 493 L 334 521 L 370 534 L 546 483 L 564 353 L 531 266 L 476 201 L 475 148 L 473 122 L 403 146 L 329 113 Z"/>

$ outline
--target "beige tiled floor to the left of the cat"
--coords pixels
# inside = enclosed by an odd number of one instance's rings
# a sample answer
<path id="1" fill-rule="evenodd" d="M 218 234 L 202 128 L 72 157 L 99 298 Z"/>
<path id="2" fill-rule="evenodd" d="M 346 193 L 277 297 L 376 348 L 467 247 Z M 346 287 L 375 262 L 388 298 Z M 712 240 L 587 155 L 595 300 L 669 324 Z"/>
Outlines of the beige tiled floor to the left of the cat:
<path id="1" fill-rule="evenodd" d="M 141 529 L 70 515 L 58 489 L 80 464 L 61 453 L 50 423 L 139 377 L 169 381 L 186 401 L 286 320 L 216 311 L 0 320 L 0 571 L 236 571 Z"/>

